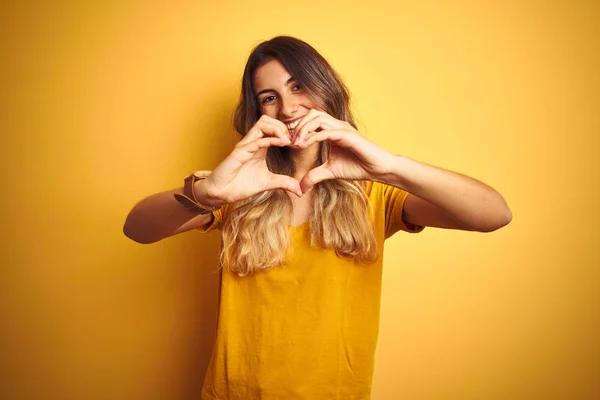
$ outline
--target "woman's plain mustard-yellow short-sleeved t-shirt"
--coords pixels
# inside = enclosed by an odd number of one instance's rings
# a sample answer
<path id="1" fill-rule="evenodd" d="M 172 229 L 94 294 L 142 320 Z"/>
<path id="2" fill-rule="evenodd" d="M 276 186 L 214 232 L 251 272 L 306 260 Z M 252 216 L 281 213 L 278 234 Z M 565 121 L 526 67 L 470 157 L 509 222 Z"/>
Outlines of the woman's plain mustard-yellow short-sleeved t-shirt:
<path id="1" fill-rule="evenodd" d="M 291 227 L 287 266 L 239 277 L 221 270 L 219 318 L 204 400 L 365 400 L 379 332 L 383 242 L 398 230 L 408 193 L 367 182 L 379 256 L 359 265 L 310 247 Z M 220 210 L 221 211 L 221 210 Z M 215 212 L 208 232 L 219 229 Z"/>

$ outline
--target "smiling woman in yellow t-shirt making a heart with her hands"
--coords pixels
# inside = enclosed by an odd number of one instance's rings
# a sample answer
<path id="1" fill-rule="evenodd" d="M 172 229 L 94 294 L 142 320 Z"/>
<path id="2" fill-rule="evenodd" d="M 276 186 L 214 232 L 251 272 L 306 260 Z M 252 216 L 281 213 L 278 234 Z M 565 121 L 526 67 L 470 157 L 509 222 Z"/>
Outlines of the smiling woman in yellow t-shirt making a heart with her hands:
<path id="1" fill-rule="evenodd" d="M 253 50 L 235 128 L 212 173 L 143 200 L 124 227 L 140 243 L 222 230 L 202 398 L 368 399 L 384 240 L 425 226 L 489 232 L 511 212 L 489 186 L 361 136 L 339 76 L 295 38 Z"/>

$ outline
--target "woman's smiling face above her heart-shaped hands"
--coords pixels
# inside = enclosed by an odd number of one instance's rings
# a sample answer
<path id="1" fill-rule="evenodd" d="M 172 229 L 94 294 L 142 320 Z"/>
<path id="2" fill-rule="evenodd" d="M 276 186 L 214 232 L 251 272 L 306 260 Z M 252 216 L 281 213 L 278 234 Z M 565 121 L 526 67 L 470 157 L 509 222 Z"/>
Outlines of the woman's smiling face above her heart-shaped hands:
<path id="1" fill-rule="evenodd" d="M 292 135 L 298 121 L 310 109 L 318 109 L 300 82 L 277 59 L 256 69 L 254 94 L 260 113 L 285 123 Z"/>

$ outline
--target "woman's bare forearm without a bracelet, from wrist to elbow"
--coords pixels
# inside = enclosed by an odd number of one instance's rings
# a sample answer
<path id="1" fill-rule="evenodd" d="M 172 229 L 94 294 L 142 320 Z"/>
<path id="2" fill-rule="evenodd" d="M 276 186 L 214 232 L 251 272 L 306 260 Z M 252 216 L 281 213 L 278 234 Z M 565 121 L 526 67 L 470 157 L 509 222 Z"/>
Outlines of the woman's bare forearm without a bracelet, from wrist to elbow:
<path id="1" fill-rule="evenodd" d="M 512 214 L 500 193 L 468 176 L 396 156 L 391 172 L 380 179 L 435 205 L 471 230 L 506 225 Z"/>

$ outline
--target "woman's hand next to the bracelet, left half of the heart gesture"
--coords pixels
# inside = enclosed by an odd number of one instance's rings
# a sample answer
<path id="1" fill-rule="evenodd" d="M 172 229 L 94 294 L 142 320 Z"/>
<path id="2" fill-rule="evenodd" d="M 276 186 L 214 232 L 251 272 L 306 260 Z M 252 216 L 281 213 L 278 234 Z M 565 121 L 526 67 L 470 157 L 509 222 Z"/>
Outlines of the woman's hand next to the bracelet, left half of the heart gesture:
<path id="1" fill-rule="evenodd" d="M 219 203 L 234 203 L 257 193 L 285 189 L 302 196 L 299 182 L 267 168 L 267 149 L 288 146 L 290 134 L 285 124 L 263 115 L 246 136 L 202 182 L 204 192 Z"/>

